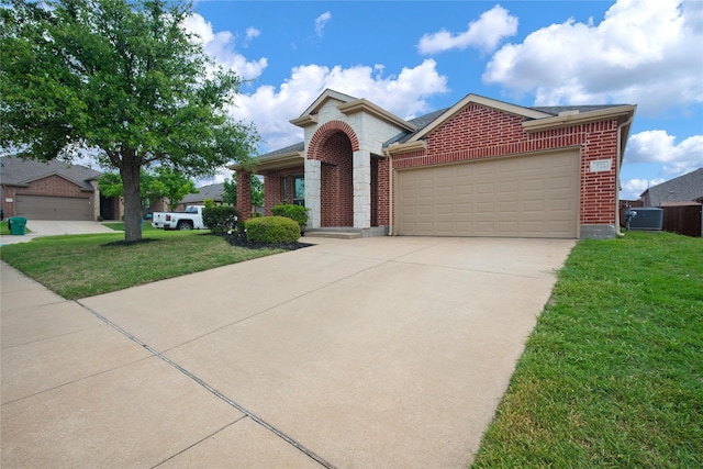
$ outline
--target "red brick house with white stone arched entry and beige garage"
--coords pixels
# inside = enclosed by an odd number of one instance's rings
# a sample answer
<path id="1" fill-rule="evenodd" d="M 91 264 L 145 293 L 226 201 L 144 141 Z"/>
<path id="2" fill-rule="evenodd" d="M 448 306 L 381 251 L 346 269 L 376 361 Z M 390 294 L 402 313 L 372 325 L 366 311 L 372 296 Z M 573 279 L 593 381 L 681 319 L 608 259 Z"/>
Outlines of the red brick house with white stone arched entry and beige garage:
<path id="1" fill-rule="evenodd" d="M 525 108 L 468 94 L 403 120 L 325 90 L 304 142 L 258 158 L 265 210 L 310 209 L 309 228 L 422 236 L 614 237 L 635 105 Z M 237 165 L 237 181 L 249 174 Z M 248 185 L 237 183 L 248 216 Z"/>

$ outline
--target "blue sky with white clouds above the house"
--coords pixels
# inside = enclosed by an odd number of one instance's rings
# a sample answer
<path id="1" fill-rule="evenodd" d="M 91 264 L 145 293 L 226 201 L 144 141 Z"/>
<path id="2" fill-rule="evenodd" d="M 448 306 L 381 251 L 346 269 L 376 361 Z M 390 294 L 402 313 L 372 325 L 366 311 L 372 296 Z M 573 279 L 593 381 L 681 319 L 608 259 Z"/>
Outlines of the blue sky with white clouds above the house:
<path id="1" fill-rule="evenodd" d="M 703 1 L 197 1 L 188 27 L 246 80 L 263 152 L 332 88 L 410 119 L 475 93 L 637 104 L 621 198 L 703 167 Z M 220 179 L 228 177 L 220 175 Z"/>

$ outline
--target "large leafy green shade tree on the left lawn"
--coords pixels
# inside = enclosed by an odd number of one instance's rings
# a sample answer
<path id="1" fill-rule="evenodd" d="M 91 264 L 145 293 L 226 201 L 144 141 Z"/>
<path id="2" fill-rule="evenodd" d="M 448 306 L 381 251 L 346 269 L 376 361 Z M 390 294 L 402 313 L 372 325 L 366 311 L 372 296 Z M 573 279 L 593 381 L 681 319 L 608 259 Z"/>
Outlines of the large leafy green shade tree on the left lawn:
<path id="1" fill-rule="evenodd" d="M 122 179 L 125 241 L 142 237 L 143 168 L 250 167 L 258 135 L 227 115 L 241 81 L 185 27 L 190 3 L 11 0 L 0 13 L 0 146 L 44 160 L 98 148 Z"/>

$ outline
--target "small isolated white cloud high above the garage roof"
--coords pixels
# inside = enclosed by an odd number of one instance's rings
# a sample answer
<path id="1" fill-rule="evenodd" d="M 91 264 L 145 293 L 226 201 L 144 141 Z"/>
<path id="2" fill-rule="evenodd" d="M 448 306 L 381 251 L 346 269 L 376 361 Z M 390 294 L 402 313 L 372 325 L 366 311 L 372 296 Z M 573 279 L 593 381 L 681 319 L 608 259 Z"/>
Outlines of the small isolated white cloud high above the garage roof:
<path id="1" fill-rule="evenodd" d="M 477 21 L 469 23 L 467 31 L 453 34 L 446 30 L 425 34 L 420 38 L 417 51 L 421 54 L 437 54 L 453 48 L 465 49 L 476 47 L 483 53 L 495 49 L 505 37 L 517 32 L 517 18 L 496 4 L 481 14 Z"/>

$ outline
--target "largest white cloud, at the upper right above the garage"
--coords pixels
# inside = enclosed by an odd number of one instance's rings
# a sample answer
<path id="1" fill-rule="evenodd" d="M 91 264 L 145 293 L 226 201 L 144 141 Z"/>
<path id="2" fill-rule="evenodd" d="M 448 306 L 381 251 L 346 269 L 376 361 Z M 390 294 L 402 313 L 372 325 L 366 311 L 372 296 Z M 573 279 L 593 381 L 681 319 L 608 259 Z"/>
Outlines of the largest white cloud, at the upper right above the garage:
<path id="1" fill-rule="evenodd" d="M 703 2 L 620 0 L 600 24 L 570 19 L 501 47 L 483 74 L 542 105 L 617 102 L 652 114 L 703 102 Z"/>

